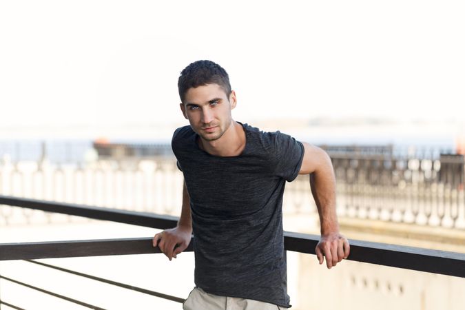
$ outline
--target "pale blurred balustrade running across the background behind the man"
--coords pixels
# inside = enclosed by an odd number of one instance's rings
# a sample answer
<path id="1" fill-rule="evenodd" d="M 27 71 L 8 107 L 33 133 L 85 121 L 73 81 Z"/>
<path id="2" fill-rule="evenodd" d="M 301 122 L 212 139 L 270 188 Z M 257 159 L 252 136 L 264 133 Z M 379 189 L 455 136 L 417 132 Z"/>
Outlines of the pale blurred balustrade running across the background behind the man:
<path id="1" fill-rule="evenodd" d="M 340 218 L 465 229 L 462 156 L 331 152 Z M 0 194 L 40 200 L 179 214 L 182 184 L 174 158 L 74 166 L 0 161 Z M 308 177 L 287 184 L 284 202 L 285 214 L 315 212 Z M 1 208 L 0 225 L 33 220 L 32 212 L 19 213 Z"/>

